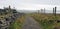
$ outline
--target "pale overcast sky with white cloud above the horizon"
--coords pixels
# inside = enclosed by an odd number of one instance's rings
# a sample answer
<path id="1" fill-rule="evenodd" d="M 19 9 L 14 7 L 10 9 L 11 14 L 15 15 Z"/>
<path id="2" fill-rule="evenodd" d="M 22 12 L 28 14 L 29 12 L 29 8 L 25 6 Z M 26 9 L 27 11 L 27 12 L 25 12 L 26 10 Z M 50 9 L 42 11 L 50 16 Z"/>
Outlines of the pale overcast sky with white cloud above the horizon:
<path id="1" fill-rule="evenodd" d="M 8 7 L 9 5 L 18 10 L 39 10 L 41 8 L 52 10 L 55 6 L 57 10 L 60 10 L 60 0 L 0 0 L 0 8 Z"/>

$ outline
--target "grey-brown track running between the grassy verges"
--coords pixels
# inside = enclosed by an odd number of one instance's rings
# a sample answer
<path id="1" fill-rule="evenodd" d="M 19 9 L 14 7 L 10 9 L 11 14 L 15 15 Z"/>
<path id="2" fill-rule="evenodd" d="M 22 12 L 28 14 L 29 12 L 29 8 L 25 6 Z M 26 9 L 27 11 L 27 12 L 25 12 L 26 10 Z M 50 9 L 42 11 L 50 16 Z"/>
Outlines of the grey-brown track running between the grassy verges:
<path id="1" fill-rule="evenodd" d="M 32 17 L 26 17 L 23 24 L 23 29 L 41 29 L 39 23 L 37 23 Z"/>

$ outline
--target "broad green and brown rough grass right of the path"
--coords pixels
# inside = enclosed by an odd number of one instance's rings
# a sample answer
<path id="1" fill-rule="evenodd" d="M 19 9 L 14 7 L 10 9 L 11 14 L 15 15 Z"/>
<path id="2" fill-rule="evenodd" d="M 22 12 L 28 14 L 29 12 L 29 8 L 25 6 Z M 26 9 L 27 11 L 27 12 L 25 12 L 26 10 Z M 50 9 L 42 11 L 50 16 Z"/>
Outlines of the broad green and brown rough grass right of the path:
<path id="1" fill-rule="evenodd" d="M 43 29 L 53 29 L 56 26 L 60 26 L 60 23 L 55 21 L 60 19 L 60 15 L 55 17 L 53 14 L 30 14 L 29 16 L 39 22 Z"/>

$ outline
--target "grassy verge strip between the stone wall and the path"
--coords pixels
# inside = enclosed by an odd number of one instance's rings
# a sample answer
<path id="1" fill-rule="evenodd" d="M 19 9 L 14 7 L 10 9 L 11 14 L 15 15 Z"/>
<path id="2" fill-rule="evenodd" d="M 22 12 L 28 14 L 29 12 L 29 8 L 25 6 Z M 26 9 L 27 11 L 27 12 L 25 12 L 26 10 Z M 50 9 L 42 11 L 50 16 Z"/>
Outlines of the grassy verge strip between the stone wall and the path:
<path id="1" fill-rule="evenodd" d="M 11 24 L 10 29 L 22 29 L 24 19 L 25 16 L 21 16 L 20 18 L 17 18 L 17 20 L 13 24 Z"/>

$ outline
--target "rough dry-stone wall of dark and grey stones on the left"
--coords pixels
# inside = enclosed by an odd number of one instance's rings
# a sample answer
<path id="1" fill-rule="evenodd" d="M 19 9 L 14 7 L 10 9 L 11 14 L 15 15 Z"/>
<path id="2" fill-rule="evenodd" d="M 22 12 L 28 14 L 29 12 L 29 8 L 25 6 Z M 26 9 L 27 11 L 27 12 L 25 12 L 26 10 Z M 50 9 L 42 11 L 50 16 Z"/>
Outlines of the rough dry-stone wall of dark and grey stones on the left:
<path id="1" fill-rule="evenodd" d="M 13 11 L 11 9 L 11 13 L 8 11 L 6 12 L 6 9 L 0 9 L 0 29 L 9 29 L 9 26 L 21 15 L 17 11 Z M 5 11 L 5 12 L 4 12 Z M 3 12 L 3 13 L 2 13 Z M 6 13 L 6 14 L 5 14 Z M 1 15 L 2 14 L 2 15 Z"/>

